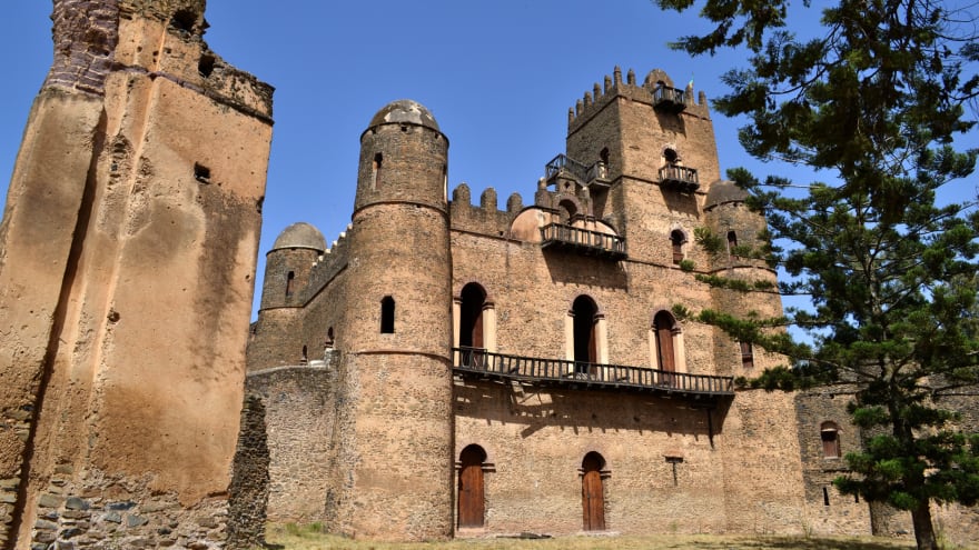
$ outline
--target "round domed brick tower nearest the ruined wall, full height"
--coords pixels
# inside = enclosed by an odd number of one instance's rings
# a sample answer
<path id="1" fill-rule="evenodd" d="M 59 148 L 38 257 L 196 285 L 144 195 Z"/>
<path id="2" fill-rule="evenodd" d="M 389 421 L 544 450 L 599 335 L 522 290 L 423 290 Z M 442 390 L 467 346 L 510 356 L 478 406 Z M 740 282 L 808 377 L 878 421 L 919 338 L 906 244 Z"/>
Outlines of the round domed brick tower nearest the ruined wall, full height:
<path id="1" fill-rule="evenodd" d="M 330 531 L 414 540 L 452 533 L 447 153 L 438 123 L 414 101 L 384 107 L 360 136 L 337 339 L 339 392 L 349 403 L 338 470 L 349 480 L 339 481 L 334 502 L 328 497 L 338 522 Z"/>

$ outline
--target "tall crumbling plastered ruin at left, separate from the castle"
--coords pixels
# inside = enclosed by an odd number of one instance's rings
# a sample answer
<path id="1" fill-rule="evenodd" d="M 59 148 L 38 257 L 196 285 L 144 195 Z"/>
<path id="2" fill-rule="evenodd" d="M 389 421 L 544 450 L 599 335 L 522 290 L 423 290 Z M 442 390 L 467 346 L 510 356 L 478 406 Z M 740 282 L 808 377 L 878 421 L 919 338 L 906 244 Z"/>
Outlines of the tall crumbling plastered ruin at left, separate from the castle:
<path id="1" fill-rule="evenodd" d="M 271 88 L 204 7 L 53 2 L 0 226 L 4 549 L 225 537 Z"/>

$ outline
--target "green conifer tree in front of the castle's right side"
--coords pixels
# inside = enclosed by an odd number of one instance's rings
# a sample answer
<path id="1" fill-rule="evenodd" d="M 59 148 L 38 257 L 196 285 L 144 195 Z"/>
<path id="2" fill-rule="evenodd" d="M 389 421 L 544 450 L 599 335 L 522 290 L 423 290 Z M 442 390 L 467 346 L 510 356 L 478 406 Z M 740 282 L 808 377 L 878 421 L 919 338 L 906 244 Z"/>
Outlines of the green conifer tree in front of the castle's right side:
<path id="1" fill-rule="evenodd" d="M 693 0 L 656 3 L 683 10 Z M 779 322 L 689 314 L 788 358 L 748 387 L 851 390 L 853 422 L 873 437 L 846 457 L 851 473 L 837 484 L 910 510 L 919 548 L 937 546 L 930 501 L 979 500 L 979 434 L 950 409 L 979 382 L 979 213 L 975 197 L 936 199 L 973 172 L 979 154 L 955 143 L 976 124 L 966 108 L 979 93 L 979 46 L 976 21 L 952 6 L 837 0 L 821 10 L 822 31 L 800 39 L 788 30 L 789 11 L 814 10 L 808 1 L 704 0 L 701 16 L 714 30 L 673 44 L 693 54 L 746 49 L 748 67 L 724 76 L 730 92 L 715 109 L 746 118 L 739 138 L 752 156 L 830 179 L 799 186 L 729 172 L 767 217 L 765 257 L 788 274 L 778 291 L 811 307 L 789 308 Z M 709 253 L 723 250 L 709 231 L 695 237 Z M 788 326 L 812 344 L 795 342 L 781 330 Z"/>

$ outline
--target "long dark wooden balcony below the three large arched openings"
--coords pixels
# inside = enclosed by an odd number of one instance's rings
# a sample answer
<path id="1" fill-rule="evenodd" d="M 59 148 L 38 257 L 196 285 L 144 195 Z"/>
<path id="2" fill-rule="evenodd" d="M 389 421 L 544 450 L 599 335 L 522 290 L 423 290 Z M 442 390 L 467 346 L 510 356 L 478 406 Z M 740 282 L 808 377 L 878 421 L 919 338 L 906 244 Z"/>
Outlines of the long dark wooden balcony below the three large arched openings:
<path id="1" fill-rule="evenodd" d="M 578 389 L 650 392 L 691 399 L 734 394 L 734 381 L 731 377 L 505 356 L 479 348 L 454 348 L 452 351 L 452 369 L 462 377 L 516 380 L 540 386 L 566 386 Z"/>

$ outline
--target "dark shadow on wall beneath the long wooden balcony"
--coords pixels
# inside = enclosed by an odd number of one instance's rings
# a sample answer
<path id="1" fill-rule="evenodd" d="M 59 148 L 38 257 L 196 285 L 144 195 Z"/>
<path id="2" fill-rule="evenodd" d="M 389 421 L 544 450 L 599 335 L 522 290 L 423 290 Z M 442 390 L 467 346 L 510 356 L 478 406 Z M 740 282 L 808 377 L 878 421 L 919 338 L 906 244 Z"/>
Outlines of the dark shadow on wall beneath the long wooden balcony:
<path id="1" fill-rule="evenodd" d="M 641 393 L 457 382 L 457 417 L 488 423 L 524 424 L 523 438 L 557 427 L 578 433 L 616 431 L 691 436 L 710 441 L 722 432 L 730 400 L 682 401 Z M 712 408 L 711 408 L 712 407 Z"/>

